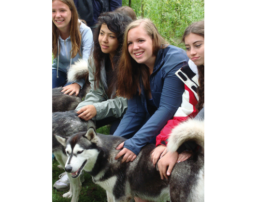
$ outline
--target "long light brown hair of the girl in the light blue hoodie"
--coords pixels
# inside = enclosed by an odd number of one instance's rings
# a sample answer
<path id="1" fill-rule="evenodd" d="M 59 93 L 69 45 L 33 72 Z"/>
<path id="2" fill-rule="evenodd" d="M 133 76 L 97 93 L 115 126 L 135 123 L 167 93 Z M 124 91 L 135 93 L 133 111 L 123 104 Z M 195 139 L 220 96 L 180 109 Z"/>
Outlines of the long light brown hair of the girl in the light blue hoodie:
<path id="1" fill-rule="evenodd" d="M 52 0 L 52 2 L 54 1 L 55 0 Z M 81 47 L 82 36 L 79 29 L 80 29 L 81 22 L 85 23 L 85 25 L 86 25 L 86 22 L 84 20 L 81 20 L 79 22 L 78 20 L 79 15 L 77 13 L 73 0 L 60 0 L 60 1 L 65 3 L 70 8 L 72 13 L 71 14 L 71 32 L 70 32 L 71 44 L 72 44 L 71 58 L 74 58 L 77 55 L 77 53 L 79 53 L 79 55 L 81 56 L 80 47 Z M 52 21 L 52 52 L 53 52 L 54 58 L 56 58 L 57 54 L 59 54 L 58 53 L 59 36 L 60 36 L 60 32 L 57 26 Z"/>

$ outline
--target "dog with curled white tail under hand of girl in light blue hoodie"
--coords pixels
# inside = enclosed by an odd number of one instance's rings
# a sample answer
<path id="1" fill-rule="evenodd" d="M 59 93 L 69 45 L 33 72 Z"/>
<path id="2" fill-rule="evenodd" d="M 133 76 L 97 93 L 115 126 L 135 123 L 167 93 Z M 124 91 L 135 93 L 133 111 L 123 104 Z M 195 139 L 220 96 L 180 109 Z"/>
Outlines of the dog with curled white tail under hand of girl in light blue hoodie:
<path id="1" fill-rule="evenodd" d="M 52 99 L 52 112 L 66 112 L 75 110 L 77 105 L 85 99 L 86 94 L 91 89 L 90 82 L 88 80 L 88 67 L 87 63 L 80 59 L 78 62 L 71 65 L 68 71 L 68 82 L 74 82 L 75 80 L 85 79 L 85 85 L 80 89 L 78 96 L 67 95 L 61 92 L 62 88 L 53 88 Z"/>

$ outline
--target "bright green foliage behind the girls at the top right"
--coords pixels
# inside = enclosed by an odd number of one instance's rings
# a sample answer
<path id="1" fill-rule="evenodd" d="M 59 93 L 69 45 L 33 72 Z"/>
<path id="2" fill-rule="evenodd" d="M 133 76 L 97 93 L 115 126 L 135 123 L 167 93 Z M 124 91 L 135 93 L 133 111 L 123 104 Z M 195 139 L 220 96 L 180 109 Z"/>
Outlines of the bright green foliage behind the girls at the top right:
<path id="1" fill-rule="evenodd" d="M 131 0 L 131 7 L 141 16 L 151 19 L 159 33 L 171 45 L 179 44 L 185 29 L 194 22 L 204 20 L 204 0 Z M 123 0 L 128 5 L 129 0 Z"/>

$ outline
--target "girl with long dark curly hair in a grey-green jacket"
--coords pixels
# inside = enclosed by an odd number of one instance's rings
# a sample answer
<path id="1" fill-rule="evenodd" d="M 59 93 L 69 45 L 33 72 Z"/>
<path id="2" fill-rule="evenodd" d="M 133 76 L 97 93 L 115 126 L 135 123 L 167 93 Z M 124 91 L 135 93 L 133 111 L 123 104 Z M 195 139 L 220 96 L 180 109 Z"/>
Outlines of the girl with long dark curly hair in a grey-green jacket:
<path id="1" fill-rule="evenodd" d="M 88 60 L 91 90 L 76 110 L 78 117 L 96 121 L 97 128 L 112 124 L 114 134 L 127 110 L 127 99 L 116 96 L 117 66 L 126 26 L 132 22 L 119 12 L 103 13 L 94 30 L 94 49 Z"/>

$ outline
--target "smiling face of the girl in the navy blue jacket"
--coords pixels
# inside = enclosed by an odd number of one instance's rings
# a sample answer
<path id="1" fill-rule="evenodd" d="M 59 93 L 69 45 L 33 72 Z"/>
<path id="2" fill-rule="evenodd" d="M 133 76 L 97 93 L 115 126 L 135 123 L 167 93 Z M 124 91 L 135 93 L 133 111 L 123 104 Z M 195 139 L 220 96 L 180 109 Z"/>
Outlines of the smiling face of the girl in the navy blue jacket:
<path id="1" fill-rule="evenodd" d="M 156 56 L 153 54 L 153 39 L 143 29 L 142 24 L 129 30 L 128 51 L 137 63 L 154 69 Z"/>

